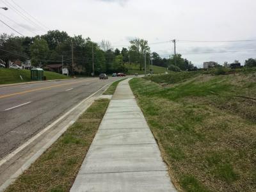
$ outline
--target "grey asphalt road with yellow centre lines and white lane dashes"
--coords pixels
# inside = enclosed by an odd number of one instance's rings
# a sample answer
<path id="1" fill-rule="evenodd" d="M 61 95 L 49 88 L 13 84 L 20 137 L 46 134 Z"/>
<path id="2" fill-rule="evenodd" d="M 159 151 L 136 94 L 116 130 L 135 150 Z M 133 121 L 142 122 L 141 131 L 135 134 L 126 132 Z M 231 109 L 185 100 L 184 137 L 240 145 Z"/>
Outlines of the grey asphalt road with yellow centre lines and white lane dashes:
<path id="1" fill-rule="evenodd" d="M 0 159 L 116 79 L 86 78 L 0 88 Z"/>

